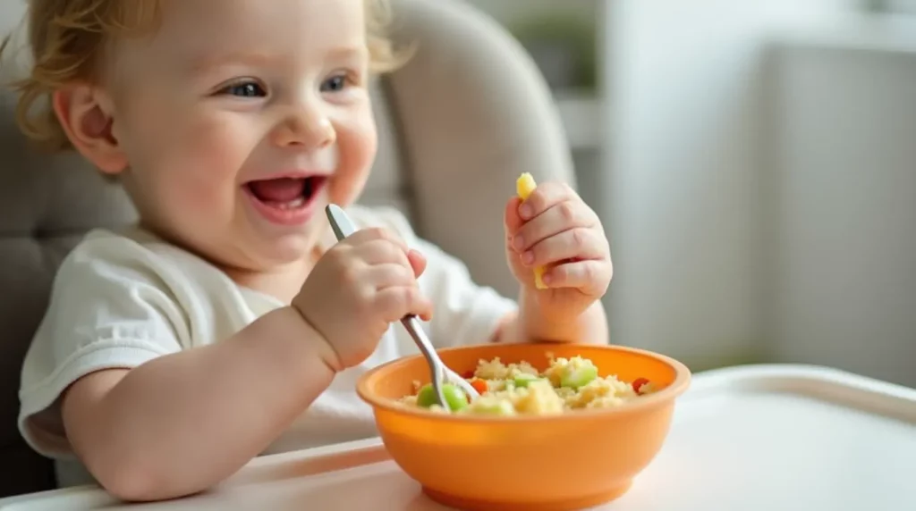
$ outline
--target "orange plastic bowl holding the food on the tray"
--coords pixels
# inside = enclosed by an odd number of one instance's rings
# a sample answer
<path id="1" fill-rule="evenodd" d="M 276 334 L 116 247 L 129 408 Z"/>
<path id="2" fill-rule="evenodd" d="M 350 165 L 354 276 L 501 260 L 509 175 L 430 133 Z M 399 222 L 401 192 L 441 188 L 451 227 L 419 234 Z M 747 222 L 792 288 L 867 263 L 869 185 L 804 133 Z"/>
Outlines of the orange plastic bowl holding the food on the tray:
<path id="1" fill-rule="evenodd" d="M 376 367 L 357 382 L 387 452 L 433 500 L 469 510 L 553 511 L 614 500 L 661 449 L 674 401 L 690 385 L 682 363 L 623 346 L 523 344 L 439 351 L 458 374 L 481 359 L 527 361 L 543 370 L 555 357 L 591 359 L 601 376 L 649 378 L 658 389 L 613 409 L 553 416 L 469 416 L 414 409 L 397 402 L 413 382 L 430 381 L 420 355 Z"/>

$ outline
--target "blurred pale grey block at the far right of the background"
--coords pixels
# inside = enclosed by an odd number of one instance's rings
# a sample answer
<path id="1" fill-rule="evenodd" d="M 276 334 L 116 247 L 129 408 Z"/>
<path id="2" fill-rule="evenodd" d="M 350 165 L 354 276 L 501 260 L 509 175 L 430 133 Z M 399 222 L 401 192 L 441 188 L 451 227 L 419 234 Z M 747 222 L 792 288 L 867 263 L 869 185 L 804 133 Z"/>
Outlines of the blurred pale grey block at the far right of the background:
<path id="1" fill-rule="evenodd" d="M 771 357 L 916 387 L 916 20 L 772 59 Z"/>

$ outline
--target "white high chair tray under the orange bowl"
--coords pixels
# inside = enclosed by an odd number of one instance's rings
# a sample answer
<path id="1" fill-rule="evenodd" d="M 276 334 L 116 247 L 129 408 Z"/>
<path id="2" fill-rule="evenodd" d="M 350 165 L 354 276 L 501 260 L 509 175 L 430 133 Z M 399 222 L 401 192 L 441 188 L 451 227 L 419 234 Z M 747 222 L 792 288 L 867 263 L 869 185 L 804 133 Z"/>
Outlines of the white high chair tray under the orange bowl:
<path id="1" fill-rule="evenodd" d="M 378 439 L 266 456 L 206 495 L 120 504 L 82 487 L 0 500 L 0 511 L 448 509 Z M 659 456 L 600 511 L 916 509 L 916 389 L 807 366 L 698 374 Z"/>

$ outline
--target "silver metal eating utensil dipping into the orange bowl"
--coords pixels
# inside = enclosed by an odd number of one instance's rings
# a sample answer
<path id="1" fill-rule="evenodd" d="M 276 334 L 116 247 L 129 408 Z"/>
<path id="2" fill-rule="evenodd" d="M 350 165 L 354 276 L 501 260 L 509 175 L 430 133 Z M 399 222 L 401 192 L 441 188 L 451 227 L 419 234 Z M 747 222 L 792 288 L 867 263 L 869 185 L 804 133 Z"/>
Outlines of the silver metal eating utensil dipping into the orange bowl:
<path id="1" fill-rule="evenodd" d="M 338 241 L 344 240 L 344 238 L 356 232 L 353 222 L 350 221 L 350 218 L 344 213 L 343 208 L 340 208 L 336 204 L 329 204 L 327 208 L 324 208 L 324 211 L 327 213 L 328 221 L 331 222 L 331 229 L 333 229 L 334 236 L 337 237 Z M 429 337 L 426 336 L 426 333 L 420 326 L 420 320 L 417 316 L 408 314 L 401 318 L 400 321 L 401 325 L 404 325 L 404 328 L 407 329 L 410 337 L 413 338 L 413 341 L 417 343 L 417 347 L 420 348 L 423 357 L 426 357 L 426 362 L 430 366 L 432 389 L 435 391 L 436 399 L 439 399 L 439 404 L 442 408 L 451 410 L 448 402 L 445 400 L 445 394 L 442 393 L 442 383 L 457 385 L 463 389 L 471 399 L 480 397 L 480 394 L 474 389 L 474 386 L 462 378 L 461 375 L 442 363 L 442 359 L 439 358 L 439 355 L 436 353 L 436 349 L 432 346 Z"/>

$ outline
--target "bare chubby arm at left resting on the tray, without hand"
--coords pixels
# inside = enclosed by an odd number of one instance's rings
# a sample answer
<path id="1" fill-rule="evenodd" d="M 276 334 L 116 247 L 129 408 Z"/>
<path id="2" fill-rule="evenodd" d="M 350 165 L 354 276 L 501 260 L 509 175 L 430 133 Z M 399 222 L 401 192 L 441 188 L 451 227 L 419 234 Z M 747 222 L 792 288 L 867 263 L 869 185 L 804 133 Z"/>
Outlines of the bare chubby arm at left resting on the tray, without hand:
<path id="1" fill-rule="evenodd" d="M 210 346 L 77 380 L 73 450 L 125 500 L 198 493 L 234 474 L 331 384 L 330 346 L 292 307 Z"/>

